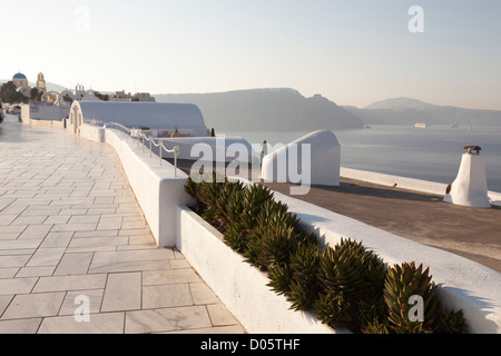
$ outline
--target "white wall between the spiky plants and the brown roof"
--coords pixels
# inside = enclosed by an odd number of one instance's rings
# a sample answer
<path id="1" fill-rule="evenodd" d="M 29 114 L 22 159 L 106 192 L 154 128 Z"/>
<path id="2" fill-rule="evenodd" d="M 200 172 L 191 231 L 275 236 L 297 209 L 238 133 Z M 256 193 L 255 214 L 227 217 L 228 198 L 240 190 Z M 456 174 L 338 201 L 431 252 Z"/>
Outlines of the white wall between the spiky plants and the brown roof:
<path id="1" fill-rule="evenodd" d="M 275 192 L 275 198 L 315 231 L 323 246 L 352 238 L 389 265 L 411 263 L 430 267 L 439 295 L 449 309 L 462 309 L 470 333 L 501 333 L 501 274 L 458 255 L 383 231 L 303 200 Z"/>

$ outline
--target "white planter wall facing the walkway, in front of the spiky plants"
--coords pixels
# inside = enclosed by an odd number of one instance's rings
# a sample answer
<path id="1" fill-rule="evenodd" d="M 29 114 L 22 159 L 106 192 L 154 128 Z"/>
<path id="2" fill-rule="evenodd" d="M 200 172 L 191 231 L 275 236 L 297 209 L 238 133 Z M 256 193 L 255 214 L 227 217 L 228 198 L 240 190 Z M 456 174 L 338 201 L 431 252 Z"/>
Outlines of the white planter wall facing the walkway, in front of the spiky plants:
<path id="1" fill-rule="evenodd" d="M 266 274 L 247 264 L 222 240 L 219 231 L 186 207 L 178 208 L 177 248 L 220 300 L 252 334 L 333 334 L 311 313 L 266 285 Z M 348 333 L 338 329 L 337 333 Z"/>

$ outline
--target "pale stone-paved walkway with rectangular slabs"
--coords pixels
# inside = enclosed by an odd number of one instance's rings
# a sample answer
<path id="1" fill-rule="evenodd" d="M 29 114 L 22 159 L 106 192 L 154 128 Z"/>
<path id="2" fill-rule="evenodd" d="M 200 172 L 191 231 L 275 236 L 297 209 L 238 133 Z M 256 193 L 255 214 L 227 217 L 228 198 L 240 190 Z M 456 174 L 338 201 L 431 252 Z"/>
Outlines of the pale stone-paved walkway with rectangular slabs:
<path id="1" fill-rule="evenodd" d="M 155 246 L 111 147 L 4 122 L 0 333 L 245 330 L 181 254 Z"/>

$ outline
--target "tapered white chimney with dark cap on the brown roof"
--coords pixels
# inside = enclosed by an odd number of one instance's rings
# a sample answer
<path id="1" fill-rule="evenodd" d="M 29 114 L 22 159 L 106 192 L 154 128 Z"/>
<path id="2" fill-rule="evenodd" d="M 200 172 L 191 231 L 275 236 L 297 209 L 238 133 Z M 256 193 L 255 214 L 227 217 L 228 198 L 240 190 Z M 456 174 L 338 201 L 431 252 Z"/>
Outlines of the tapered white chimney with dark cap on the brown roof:
<path id="1" fill-rule="evenodd" d="M 482 156 L 463 155 L 458 177 L 452 182 L 451 191 L 445 195 L 443 201 L 475 208 L 491 207 Z"/>

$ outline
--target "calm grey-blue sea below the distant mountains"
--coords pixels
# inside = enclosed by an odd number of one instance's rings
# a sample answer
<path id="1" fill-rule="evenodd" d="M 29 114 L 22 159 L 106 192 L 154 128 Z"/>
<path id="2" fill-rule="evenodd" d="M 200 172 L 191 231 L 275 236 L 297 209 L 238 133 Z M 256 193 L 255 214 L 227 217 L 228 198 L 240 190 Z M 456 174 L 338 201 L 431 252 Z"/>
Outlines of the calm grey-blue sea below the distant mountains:
<path id="1" fill-rule="evenodd" d="M 310 132 L 216 132 L 240 136 L 250 144 L 288 144 Z M 426 129 L 375 125 L 336 131 L 342 166 L 410 178 L 452 182 L 463 146 L 482 148 L 489 189 L 501 192 L 501 128 L 435 126 Z"/>

